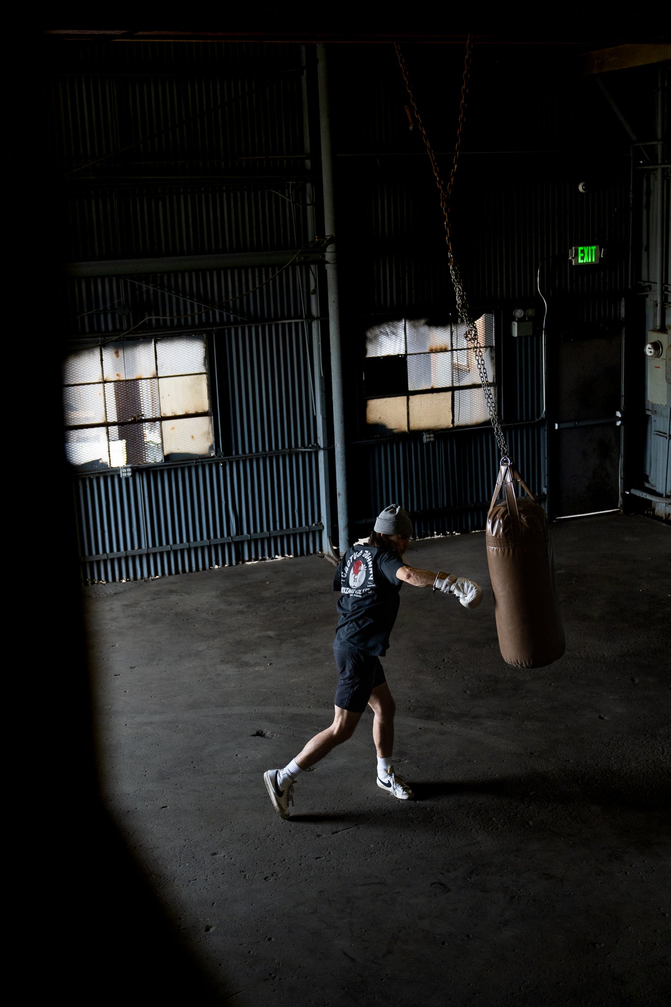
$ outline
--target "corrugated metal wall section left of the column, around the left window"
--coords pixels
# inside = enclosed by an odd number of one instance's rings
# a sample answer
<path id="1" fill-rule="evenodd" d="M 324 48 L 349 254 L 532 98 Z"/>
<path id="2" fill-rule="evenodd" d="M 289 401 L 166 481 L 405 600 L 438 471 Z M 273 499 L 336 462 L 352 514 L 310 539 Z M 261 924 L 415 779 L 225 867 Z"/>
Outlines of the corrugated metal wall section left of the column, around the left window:
<path id="1" fill-rule="evenodd" d="M 300 46 L 87 42 L 55 60 L 67 260 L 240 252 L 288 260 L 314 238 Z M 80 345 L 130 331 L 204 332 L 215 428 L 212 458 L 78 477 L 86 578 L 324 548 L 324 395 L 311 320 L 323 267 L 293 263 L 273 278 L 279 268 L 68 282 L 67 328 Z"/>

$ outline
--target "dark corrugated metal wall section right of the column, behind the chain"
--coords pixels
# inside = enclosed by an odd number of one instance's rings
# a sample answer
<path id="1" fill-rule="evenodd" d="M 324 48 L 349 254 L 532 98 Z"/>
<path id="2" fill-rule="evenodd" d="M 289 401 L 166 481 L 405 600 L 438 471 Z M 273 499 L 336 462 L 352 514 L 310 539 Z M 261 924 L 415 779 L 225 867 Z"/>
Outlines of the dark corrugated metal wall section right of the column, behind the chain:
<path id="1" fill-rule="evenodd" d="M 415 98 L 449 175 L 459 115 L 463 50 L 404 46 Z M 498 472 L 489 424 L 478 430 L 371 438 L 362 423 L 365 330 L 393 317 L 455 312 L 438 190 L 420 131 L 408 130 L 407 94 L 391 46 L 343 56 L 338 89 L 349 88 L 336 121 L 343 303 L 348 312 L 350 485 L 354 527 L 365 534 L 391 498 L 415 516 L 421 535 L 482 529 Z M 487 65 L 488 60 L 490 65 Z M 527 67 L 526 77 L 519 67 Z M 605 104 L 593 82 L 566 84 L 540 69 L 528 87 L 528 52 L 505 70 L 498 55 L 474 53 L 463 153 L 452 202 L 454 247 L 469 300 L 496 315 L 499 411 L 511 455 L 536 493 L 547 491 L 548 431 L 543 388 L 540 286 L 548 302 L 547 362 L 556 341 L 585 325 L 620 322 L 627 289 L 629 159 L 598 156 Z M 495 75 L 496 76 L 496 75 Z M 581 88 L 581 93 L 578 93 Z M 577 113 L 576 109 L 581 109 Z M 361 113 L 361 114 L 357 114 Z M 594 119 L 591 121 L 591 116 Z M 588 144 L 585 146 L 585 140 Z M 544 149 L 545 148 L 545 149 Z M 585 155 L 584 151 L 589 153 Z M 443 152 L 443 153 L 440 153 Z M 599 185 L 585 196 L 586 175 Z M 613 264 L 571 270 L 571 244 L 597 236 Z M 624 253 L 624 254 L 623 254 Z M 513 339 L 514 306 L 536 311 L 534 334 Z M 551 391 L 551 382 L 550 382 Z M 358 492 L 365 473 L 365 492 Z"/>

